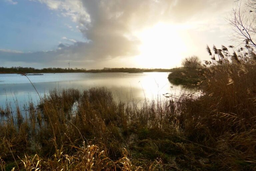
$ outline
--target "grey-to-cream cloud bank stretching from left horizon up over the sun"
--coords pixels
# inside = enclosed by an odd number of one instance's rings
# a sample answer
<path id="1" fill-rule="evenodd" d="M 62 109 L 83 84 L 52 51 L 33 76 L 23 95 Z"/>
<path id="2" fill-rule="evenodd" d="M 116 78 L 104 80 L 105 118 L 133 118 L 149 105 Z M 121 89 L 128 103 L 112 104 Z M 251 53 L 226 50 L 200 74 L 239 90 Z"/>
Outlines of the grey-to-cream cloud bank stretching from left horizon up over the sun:
<path id="1" fill-rule="evenodd" d="M 9 0 L 10 1 L 10 0 Z M 72 45 L 60 43 L 48 52 L 23 53 L 0 51 L 5 60 L 52 63 L 65 60 L 90 62 L 133 57 L 140 54 L 140 40 L 134 34 L 159 22 L 189 23 L 205 30 L 214 25 L 220 14 L 231 10 L 223 0 L 34 0 L 59 11 L 77 23 L 87 42 L 62 37 Z M 221 16 L 223 18 L 223 16 Z M 212 22 L 212 23 L 211 23 Z M 66 25 L 69 28 L 72 26 Z M 208 28 L 209 30 L 211 28 Z M 121 65 L 121 64 L 120 64 Z"/>

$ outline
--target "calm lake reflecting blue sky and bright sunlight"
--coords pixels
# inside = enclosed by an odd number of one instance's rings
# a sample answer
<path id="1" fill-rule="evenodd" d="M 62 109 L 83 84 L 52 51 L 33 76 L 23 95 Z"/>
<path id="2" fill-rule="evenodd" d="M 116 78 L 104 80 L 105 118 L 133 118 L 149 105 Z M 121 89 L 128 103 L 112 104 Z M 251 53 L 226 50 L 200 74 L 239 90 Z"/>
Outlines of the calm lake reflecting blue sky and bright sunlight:
<path id="1" fill-rule="evenodd" d="M 77 88 L 87 90 L 91 87 L 107 87 L 115 100 L 131 102 L 136 100 L 156 100 L 165 98 L 163 94 L 179 95 L 185 90 L 182 86 L 173 86 L 168 81 L 167 72 L 146 73 L 44 73 L 29 75 L 28 78 L 41 96 L 50 89 Z M 20 74 L 0 74 L 0 106 L 6 102 L 11 106 L 26 102 L 37 103 L 39 97 L 28 78 Z"/>

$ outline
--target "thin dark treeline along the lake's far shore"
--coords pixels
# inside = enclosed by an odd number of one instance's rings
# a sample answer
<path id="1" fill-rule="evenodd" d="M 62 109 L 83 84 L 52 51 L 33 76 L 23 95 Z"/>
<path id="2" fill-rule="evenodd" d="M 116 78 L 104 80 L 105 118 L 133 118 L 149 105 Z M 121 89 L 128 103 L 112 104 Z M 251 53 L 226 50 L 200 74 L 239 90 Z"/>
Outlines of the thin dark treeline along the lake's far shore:
<path id="1" fill-rule="evenodd" d="M 103 68 L 86 70 L 84 68 L 43 68 L 36 69 L 32 67 L 0 67 L 0 73 L 67 73 L 67 72 L 170 72 L 171 69 L 141 69 L 141 68 Z"/>

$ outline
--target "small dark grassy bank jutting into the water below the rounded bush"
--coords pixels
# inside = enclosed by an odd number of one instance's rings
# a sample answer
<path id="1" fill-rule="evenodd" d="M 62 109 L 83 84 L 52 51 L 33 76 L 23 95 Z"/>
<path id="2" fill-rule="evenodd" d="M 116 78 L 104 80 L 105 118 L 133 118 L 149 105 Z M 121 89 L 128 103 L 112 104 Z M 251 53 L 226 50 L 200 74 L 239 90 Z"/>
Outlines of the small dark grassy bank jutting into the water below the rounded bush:
<path id="1" fill-rule="evenodd" d="M 206 69 L 186 69 L 186 68 L 173 68 L 168 75 L 169 81 L 174 85 L 184 85 L 188 87 L 196 86 L 204 80 L 203 74 Z"/>

